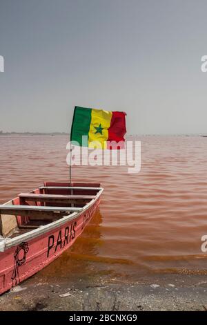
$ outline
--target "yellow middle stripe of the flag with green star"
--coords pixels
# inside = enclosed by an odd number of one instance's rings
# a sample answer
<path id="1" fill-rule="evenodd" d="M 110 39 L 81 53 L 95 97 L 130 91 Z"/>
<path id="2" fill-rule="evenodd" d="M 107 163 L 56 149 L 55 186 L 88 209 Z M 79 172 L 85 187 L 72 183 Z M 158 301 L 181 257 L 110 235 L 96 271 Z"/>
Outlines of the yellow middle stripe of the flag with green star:
<path id="1" fill-rule="evenodd" d="M 108 129 L 110 127 L 110 120 L 112 112 L 103 111 L 101 109 L 92 109 L 90 129 L 88 132 L 88 147 L 97 147 L 92 141 L 100 142 L 100 149 L 106 149 L 105 141 L 108 140 Z"/>

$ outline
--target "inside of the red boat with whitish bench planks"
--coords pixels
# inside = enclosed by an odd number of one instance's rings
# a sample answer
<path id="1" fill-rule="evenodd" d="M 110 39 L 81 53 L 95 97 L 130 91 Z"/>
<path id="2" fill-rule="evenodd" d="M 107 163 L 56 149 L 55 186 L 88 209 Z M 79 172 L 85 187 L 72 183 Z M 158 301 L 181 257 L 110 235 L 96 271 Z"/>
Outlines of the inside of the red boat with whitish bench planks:
<path id="1" fill-rule="evenodd" d="M 29 193 L 20 193 L 0 205 L 0 235 L 4 238 L 39 228 L 61 219 L 95 200 L 98 183 L 49 183 Z"/>

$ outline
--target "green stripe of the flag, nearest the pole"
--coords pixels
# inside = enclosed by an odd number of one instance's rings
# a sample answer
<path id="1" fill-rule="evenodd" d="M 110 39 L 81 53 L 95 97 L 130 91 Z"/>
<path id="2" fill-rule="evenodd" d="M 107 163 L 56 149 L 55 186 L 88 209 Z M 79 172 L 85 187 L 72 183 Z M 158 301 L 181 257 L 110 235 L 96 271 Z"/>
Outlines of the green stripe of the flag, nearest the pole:
<path id="1" fill-rule="evenodd" d="M 75 106 L 70 141 L 79 142 L 81 147 L 88 147 L 88 142 L 87 145 L 82 143 L 82 136 L 88 136 L 91 122 L 91 111 L 92 109 Z"/>

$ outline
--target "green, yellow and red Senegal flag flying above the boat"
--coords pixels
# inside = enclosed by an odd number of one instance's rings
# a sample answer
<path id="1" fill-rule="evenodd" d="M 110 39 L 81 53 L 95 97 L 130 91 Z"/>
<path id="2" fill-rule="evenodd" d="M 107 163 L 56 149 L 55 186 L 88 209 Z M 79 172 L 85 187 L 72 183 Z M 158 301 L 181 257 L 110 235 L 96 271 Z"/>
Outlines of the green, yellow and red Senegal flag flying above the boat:
<path id="1" fill-rule="evenodd" d="M 70 141 L 89 148 L 94 148 L 95 141 L 98 141 L 102 149 L 113 149 L 113 145 L 110 145 L 111 141 L 114 144 L 118 142 L 124 144 L 125 117 L 125 112 L 75 106 Z M 83 141 L 83 136 L 87 136 L 86 142 Z M 115 149 L 122 148 L 115 146 Z"/>

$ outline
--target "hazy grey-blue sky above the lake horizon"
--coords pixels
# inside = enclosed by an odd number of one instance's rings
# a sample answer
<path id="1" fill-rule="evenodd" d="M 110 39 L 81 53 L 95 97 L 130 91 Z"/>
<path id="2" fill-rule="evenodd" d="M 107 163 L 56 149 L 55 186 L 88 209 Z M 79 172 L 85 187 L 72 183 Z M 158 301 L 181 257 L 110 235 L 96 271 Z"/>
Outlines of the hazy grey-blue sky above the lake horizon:
<path id="1" fill-rule="evenodd" d="M 206 0 L 0 0 L 0 130 L 70 131 L 77 105 L 206 133 L 206 39 Z"/>

